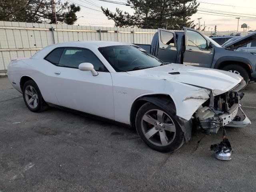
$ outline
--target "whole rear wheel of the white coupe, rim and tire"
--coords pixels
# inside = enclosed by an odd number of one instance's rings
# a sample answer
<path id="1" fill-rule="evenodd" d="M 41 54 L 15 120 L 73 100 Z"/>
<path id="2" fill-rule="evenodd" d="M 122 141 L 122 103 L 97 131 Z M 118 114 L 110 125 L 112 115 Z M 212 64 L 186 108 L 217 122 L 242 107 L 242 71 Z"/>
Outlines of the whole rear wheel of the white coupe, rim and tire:
<path id="1" fill-rule="evenodd" d="M 30 111 L 40 112 L 47 108 L 41 92 L 33 80 L 24 83 L 22 94 L 24 102 Z"/>

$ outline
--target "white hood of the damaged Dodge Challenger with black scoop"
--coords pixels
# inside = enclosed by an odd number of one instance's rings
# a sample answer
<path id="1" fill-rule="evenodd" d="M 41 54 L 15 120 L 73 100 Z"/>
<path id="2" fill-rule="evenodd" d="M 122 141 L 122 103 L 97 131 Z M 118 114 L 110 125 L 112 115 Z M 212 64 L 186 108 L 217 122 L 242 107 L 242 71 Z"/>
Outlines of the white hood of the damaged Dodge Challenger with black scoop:
<path id="1" fill-rule="evenodd" d="M 133 76 L 176 81 L 204 88 L 211 90 L 213 95 L 229 91 L 242 80 L 240 75 L 231 72 L 174 63 L 127 73 Z"/>

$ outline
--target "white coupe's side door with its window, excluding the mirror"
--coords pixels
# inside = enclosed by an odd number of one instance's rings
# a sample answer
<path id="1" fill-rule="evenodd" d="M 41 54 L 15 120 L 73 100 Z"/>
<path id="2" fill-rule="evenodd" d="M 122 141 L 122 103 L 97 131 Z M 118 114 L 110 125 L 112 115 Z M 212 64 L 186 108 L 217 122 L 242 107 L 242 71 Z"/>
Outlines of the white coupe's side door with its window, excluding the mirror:
<path id="1" fill-rule="evenodd" d="M 98 75 L 80 71 L 78 66 L 84 62 L 92 63 Z M 112 77 L 93 52 L 64 48 L 54 74 L 54 91 L 61 106 L 114 119 Z"/>

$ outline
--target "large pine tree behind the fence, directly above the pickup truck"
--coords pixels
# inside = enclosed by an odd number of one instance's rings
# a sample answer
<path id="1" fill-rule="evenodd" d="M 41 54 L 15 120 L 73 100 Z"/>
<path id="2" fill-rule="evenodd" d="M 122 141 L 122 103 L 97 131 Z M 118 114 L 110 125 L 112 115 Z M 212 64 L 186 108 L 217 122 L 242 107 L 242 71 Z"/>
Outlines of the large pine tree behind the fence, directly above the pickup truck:
<path id="1" fill-rule="evenodd" d="M 190 16 L 197 12 L 196 0 L 128 0 L 133 5 L 134 14 L 116 8 L 116 13 L 101 7 L 110 20 L 120 27 L 168 28 L 180 30 L 183 26 L 194 28 Z"/>

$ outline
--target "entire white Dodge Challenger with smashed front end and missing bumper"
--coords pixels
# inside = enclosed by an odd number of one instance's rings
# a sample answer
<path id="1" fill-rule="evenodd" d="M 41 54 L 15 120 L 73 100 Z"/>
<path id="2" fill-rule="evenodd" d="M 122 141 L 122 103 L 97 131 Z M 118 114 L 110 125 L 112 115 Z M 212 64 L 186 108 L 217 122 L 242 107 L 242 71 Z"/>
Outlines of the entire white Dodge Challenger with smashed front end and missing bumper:
<path id="1" fill-rule="evenodd" d="M 246 126 L 237 116 L 242 77 L 164 63 L 133 44 L 54 44 L 8 66 L 8 78 L 32 112 L 59 106 L 136 127 L 154 150 L 178 149 L 192 124 L 206 133 Z"/>

